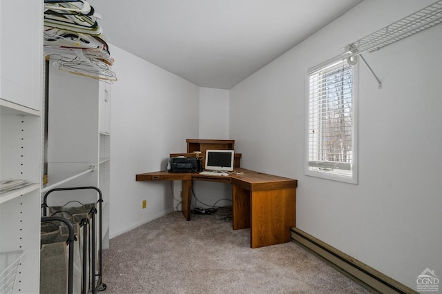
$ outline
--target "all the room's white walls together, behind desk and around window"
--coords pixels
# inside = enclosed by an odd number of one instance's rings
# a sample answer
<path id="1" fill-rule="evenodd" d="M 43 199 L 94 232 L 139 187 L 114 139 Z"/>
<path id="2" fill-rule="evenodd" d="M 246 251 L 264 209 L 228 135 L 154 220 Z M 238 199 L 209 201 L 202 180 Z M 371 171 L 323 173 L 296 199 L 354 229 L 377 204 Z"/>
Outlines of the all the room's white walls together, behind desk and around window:
<path id="1" fill-rule="evenodd" d="M 136 173 L 166 168 L 169 153 L 185 150 L 187 138 L 225 135 L 236 140 L 244 168 L 298 179 L 298 228 L 410 288 L 427 267 L 441 277 L 442 26 L 365 54 L 383 88 L 361 65 L 359 184 L 303 173 L 305 70 L 432 2 L 364 1 L 229 94 L 200 89 L 111 48 L 119 77 L 112 101 L 111 237 L 173 209 L 171 183 L 135 182 Z M 224 107 L 229 129 L 211 136 L 203 125 L 213 120 L 204 109 Z M 204 189 L 222 187 L 196 186 L 195 193 L 206 202 L 216 197 Z"/>

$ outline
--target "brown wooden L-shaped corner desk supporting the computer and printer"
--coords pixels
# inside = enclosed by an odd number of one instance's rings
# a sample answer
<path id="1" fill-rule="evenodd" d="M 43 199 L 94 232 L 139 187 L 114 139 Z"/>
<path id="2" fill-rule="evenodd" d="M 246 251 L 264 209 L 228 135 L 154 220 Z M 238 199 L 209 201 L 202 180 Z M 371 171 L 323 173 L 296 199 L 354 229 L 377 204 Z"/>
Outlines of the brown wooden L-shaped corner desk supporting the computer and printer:
<path id="1" fill-rule="evenodd" d="M 296 179 L 235 168 L 228 177 L 198 173 L 159 171 L 136 175 L 137 181 L 182 181 L 182 213 L 191 219 L 192 181 L 222 182 L 232 185 L 233 230 L 250 228 L 251 248 L 290 241 L 290 228 L 296 226 Z"/>

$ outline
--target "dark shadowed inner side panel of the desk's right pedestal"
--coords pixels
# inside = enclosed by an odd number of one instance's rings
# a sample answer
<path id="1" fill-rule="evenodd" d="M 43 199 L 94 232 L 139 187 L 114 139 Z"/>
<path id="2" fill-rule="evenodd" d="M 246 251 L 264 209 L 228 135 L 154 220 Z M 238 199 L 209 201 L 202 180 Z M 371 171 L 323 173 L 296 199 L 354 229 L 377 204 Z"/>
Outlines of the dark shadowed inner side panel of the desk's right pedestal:
<path id="1" fill-rule="evenodd" d="M 250 228 L 250 191 L 232 186 L 233 230 Z"/>

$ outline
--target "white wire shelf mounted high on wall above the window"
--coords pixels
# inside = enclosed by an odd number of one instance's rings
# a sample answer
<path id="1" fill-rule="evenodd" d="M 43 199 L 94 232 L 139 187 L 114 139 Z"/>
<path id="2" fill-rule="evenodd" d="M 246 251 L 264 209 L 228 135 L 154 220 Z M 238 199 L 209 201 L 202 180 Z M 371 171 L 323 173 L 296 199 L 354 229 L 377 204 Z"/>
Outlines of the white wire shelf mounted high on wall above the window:
<path id="1" fill-rule="evenodd" d="M 427 28 L 431 28 L 442 22 L 442 1 L 437 1 L 422 10 L 414 12 L 395 23 L 386 26 L 358 41 L 353 45 L 356 52 L 372 52 L 396 41 L 409 37 L 421 32 Z"/>

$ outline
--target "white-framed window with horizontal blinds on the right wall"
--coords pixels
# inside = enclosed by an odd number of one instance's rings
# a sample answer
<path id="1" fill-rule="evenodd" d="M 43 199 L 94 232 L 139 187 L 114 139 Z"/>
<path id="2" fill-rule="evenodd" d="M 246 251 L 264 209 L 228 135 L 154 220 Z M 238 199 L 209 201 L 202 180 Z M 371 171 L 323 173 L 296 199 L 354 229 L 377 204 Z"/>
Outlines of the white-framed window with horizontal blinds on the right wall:
<path id="1" fill-rule="evenodd" d="M 307 175 L 357 184 L 355 72 L 347 60 L 307 72 Z"/>

